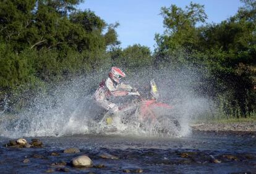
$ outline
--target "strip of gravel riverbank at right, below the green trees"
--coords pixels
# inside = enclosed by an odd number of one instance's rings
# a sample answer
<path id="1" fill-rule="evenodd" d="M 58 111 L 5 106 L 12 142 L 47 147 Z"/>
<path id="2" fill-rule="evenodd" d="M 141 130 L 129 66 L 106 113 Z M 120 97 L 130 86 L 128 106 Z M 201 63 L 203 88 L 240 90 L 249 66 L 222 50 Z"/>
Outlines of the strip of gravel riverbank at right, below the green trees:
<path id="1" fill-rule="evenodd" d="M 213 132 L 218 134 L 236 134 L 256 136 L 256 120 L 237 122 L 237 120 L 220 120 L 190 124 L 194 132 Z"/>

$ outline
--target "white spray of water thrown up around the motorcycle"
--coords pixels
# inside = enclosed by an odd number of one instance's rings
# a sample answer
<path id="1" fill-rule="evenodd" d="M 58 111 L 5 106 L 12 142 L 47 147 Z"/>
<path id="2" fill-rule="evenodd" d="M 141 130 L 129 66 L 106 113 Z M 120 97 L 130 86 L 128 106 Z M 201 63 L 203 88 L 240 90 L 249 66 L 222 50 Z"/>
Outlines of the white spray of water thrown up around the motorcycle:
<path id="1" fill-rule="evenodd" d="M 11 138 L 91 133 L 184 136 L 190 131 L 191 118 L 202 115 L 208 109 L 208 100 L 195 93 L 194 83 L 200 78 L 197 73 L 191 70 L 173 72 L 168 68 L 145 68 L 128 73 L 125 82 L 147 98 L 150 97 L 150 80 L 154 78 L 161 96 L 159 101 L 173 106 L 173 109 L 156 109 L 154 112 L 164 116 L 154 123 L 141 122 L 137 112 L 128 117 L 126 114 L 114 115 L 109 126 L 105 122 L 108 115 L 93 101 L 93 93 L 102 77 L 101 73 L 73 78 L 72 81 L 54 86 L 48 93 L 38 93 L 31 99 L 30 107 L 19 114 L 1 114 L 0 135 Z"/>

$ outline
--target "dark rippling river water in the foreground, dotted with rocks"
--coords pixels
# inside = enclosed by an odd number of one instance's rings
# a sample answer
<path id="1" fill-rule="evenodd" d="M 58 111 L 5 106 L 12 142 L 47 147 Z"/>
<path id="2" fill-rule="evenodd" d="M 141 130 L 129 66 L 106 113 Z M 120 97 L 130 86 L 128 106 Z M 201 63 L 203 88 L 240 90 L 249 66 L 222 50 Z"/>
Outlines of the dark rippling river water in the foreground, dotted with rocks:
<path id="1" fill-rule="evenodd" d="M 26 138 L 30 141 L 31 138 Z M 143 138 L 121 135 L 73 135 L 40 137 L 42 148 L 3 147 L 9 138 L 1 137 L 1 173 L 44 173 L 51 165 L 66 162 L 72 173 L 256 173 L 256 138 L 252 135 L 217 135 L 191 133 L 181 138 Z M 69 147 L 80 153 L 64 154 Z M 51 155 L 57 152 L 58 156 Z M 108 153 L 119 159 L 102 159 Z M 88 155 L 102 168 L 74 168 L 70 160 L 78 155 Z M 23 163 L 27 158 L 28 163 Z M 215 163 L 217 159 L 221 163 Z M 63 168 L 63 167 L 62 167 Z M 141 169 L 141 170 L 139 170 Z"/>

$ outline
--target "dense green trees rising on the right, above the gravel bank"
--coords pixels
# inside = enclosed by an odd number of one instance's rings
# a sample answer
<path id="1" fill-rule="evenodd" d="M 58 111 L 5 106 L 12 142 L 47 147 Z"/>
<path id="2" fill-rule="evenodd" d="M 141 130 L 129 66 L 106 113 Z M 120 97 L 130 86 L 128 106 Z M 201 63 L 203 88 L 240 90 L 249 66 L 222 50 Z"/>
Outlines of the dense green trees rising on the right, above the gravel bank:
<path id="1" fill-rule="evenodd" d="M 256 108 L 256 1 L 242 2 L 244 6 L 233 17 L 201 26 L 207 18 L 203 6 L 163 7 L 166 32 L 155 38 L 157 63 L 197 67 L 204 81 L 197 93 L 208 94 L 225 114 L 238 109 L 237 117 Z M 189 56 L 170 56 L 181 49 Z"/>

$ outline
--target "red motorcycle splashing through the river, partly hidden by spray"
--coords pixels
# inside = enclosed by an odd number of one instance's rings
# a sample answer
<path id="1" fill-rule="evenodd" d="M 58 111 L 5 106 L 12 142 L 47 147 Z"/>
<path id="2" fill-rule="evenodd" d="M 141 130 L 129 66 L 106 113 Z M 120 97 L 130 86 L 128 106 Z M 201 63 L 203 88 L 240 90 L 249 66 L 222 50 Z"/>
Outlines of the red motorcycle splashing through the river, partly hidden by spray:
<path id="1" fill-rule="evenodd" d="M 129 85 L 123 86 L 123 89 L 131 89 Z M 181 130 L 179 120 L 174 117 L 173 106 L 158 101 L 160 94 L 156 86 L 155 80 L 150 81 L 150 98 L 145 99 L 140 96 L 139 92 L 129 93 L 132 96 L 137 96 L 129 104 L 124 104 L 119 107 L 119 113 L 113 114 L 106 112 L 101 118 L 99 124 L 106 131 L 117 131 L 117 124 L 122 124 L 123 131 L 126 130 L 128 123 L 132 123 L 135 127 L 151 133 L 164 133 L 176 135 Z"/>

